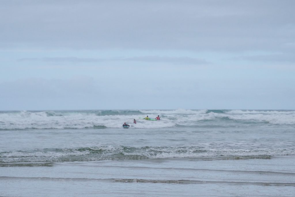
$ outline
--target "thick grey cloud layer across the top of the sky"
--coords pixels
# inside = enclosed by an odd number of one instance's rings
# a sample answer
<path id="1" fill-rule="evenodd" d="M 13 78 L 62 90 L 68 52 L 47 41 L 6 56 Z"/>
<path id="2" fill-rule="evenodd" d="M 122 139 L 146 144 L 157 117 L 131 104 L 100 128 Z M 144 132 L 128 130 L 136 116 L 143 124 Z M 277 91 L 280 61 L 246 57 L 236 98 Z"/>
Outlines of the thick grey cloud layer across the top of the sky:
<path id="1" fill-rule="evenodd" d="M 274 51 L 294 40 L 291 0 L 1 3 L 0 48 Z"/>

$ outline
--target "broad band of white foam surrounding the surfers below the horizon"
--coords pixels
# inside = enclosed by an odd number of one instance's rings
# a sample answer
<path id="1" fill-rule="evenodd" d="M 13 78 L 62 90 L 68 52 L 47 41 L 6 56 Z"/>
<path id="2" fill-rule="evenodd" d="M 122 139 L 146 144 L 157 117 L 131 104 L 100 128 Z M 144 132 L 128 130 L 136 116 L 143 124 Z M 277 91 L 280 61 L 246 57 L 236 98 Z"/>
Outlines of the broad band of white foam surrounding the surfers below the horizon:
<path id="1" fill-rule="evenodd" d="M 198 125 L 202 120 L 218 120 L 229 118 L 237 121 L 257 121 L 271 124 L 295 124 L 295 111 L 243 111 L 231 110 L 228 113 L 206 113 L 207 110 L 142 110 L 143 113 L 155 118 L 160 115 L 160 121 L 143 120 L 145 115 L 96 115 L 93 112 L 7 112 L 0 113 L 0 129 L 64 129 L 64 128 L 93 128 L 104 126 L 122 128 L 124 122 L 130 128 L 168 128 L 176 125 Z M 47 116 L 48 114 L 55 114 Z M 63 115 L 61 116 L 60 113 Z M 137 124 L 133 124 L 136 119 Z M 226 120 L 219 120 L 226 121 Z"/>

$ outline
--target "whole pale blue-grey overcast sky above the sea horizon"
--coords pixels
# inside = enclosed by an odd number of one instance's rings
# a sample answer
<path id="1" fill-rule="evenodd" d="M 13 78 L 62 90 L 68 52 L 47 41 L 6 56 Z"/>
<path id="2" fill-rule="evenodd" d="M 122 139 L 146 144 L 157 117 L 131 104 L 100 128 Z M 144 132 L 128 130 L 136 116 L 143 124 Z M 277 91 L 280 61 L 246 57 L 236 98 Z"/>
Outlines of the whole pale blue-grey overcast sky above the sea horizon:
<path id="1" fill-rule="evenodd" d="M 0 110 L 295 109 L 294 8 L 0 0 Z"/>

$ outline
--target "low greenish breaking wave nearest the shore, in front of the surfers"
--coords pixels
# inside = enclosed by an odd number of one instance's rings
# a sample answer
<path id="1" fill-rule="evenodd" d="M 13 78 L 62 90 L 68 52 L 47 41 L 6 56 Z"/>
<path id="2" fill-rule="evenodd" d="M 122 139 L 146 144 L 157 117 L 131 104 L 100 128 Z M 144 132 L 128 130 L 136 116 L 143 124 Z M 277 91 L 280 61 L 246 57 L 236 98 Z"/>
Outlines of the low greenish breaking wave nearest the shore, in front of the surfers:
<path id="1" fill-rule="evenodd" d="M 98 160 L 138 160 L 155 158 L 198 159 L 270 159 L 274 155 L 294 155 L 294 149 L 228 149 L 213 147 L 165 147 L 165 146 L 94 146 L 64 149 L 40 149 L 0 153 L 0 165 L 36 162 L 73 162 Z"/>

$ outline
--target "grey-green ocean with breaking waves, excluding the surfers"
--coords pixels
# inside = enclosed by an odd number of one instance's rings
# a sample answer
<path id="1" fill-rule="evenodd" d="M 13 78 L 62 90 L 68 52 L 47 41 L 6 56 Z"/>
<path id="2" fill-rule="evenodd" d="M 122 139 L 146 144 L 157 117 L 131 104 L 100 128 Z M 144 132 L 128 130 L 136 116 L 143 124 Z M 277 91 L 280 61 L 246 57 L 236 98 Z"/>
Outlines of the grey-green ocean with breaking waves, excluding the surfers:
<path id="1" fill-rule="evenodd" d="M 0 111 L 0 140 L 0 196 L 295 196 L 295 110 Z"/>

